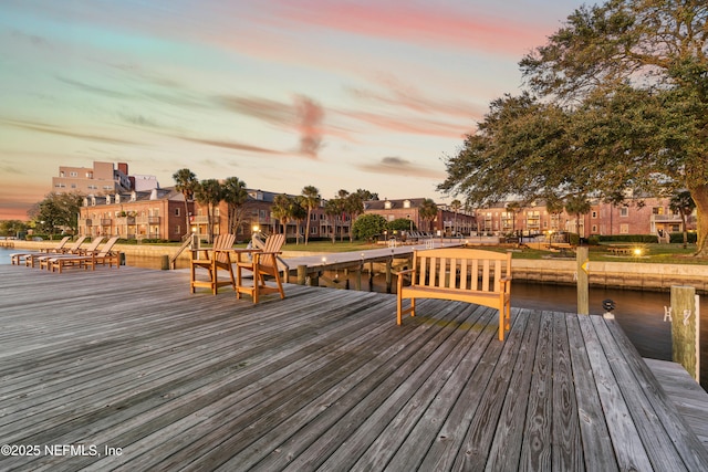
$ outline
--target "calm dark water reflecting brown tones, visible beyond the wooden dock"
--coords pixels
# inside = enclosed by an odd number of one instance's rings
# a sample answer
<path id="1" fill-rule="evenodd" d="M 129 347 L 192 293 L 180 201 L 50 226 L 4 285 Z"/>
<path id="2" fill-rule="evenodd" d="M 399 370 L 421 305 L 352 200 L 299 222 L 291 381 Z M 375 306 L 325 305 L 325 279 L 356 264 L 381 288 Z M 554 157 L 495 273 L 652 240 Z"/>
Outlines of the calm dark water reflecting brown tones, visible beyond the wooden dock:
<path id="1" fill-rule="evenodd" d="M 19 251 L 0 248 L 0 264 L 9 264 L 10 254 L 13 252 Z M 127 255 L 126 264 L 159 270 L 160 259 L 132 258 Z M 344 273 L 332 273 L 327 274 L 327 276 L 331 279 L 335 276 L 344 277 Z M 351 286 L 354 286 L 353 282 Z M 364 290 L 384 292 L 385 280 L 383 276 L 374 277 L 372 287 L 368 285 L 368 276 L 363 276 L 362 286 Z M 517 307 L 572 313 L 576 311 L 577 306 L 577 295 L 572 286 L 531 284 L 517 281 L 513 282 L 512 294 L 512 305 Z M 668 293 L 591 287 L 591 315 L 601 315 L 604 312 L 602 302 L 606 298 L 615 302 L 615 318 L 643 357 L 663 360 L 671 359 L 671 325 L 664 322 L 664 307 L 670 303 Z M 708 305 L 706 298 L 706 296 L 702 296 L 700 303 L 700 365 L 701 385 L 708 390 Z"/>

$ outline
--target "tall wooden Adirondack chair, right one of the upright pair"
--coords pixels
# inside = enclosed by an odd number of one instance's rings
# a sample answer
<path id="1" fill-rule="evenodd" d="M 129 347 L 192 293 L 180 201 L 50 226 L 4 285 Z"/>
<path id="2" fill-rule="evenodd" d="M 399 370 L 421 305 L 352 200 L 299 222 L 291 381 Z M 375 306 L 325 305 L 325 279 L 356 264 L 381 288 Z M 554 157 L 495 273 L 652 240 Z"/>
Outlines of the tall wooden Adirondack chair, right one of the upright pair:
<path id="1" fill-rule="evenodd" d="M 236 296 L 241 297 L 242 293 L 251 295 L 253 303 L 258 303 L 261 294 L 280 293 L 280 298 L 285 297 L 283 284 L 278 269 L 278 255 L 281 254 L 281 248 L 285 243 L 284 234 L 271 234 L 266 240 L 263 249 L 237 249 L 236 261 Z M 250 256 L 244 258 L 244 256 Z M 243 276 L 241 271 L 249 270 L 253 273 L 253 284 L 243 285 Z M 275 280 L 275 285 L 266 283 L 264 276 L 271 276 Z"/>

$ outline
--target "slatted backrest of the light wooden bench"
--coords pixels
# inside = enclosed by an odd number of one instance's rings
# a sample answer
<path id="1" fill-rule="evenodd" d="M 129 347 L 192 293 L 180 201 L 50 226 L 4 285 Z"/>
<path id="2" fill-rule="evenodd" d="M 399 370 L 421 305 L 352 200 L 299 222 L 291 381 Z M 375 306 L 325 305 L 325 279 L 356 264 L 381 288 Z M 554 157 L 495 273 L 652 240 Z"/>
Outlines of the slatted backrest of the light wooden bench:
<path id="1" fill-rule="evenodd" d="M 500 292 L 511 277 L 511 252 L 444 248 L 416 250 L 410 284 L 448 290 Z"/>

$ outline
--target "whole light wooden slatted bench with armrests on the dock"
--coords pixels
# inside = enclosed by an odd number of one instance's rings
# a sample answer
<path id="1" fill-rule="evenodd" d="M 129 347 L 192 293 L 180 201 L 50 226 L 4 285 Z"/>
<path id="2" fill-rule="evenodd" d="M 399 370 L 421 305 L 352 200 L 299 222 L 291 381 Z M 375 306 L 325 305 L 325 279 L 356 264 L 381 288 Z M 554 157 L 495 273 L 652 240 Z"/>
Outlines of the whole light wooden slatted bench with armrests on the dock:
<path id="1" fill-rule="evenodd" d="M 410 285 L 404 279 L 410 275 Z M 403 307 L 403 300 L 410 306 Z M 455 300 L 499 310 L 499 340 L 510 328 L 511 252 L 478 249 L 415 250 L 410 269 L 398 272 L 397 323 L 416 314 L 416 298 Z"/>

